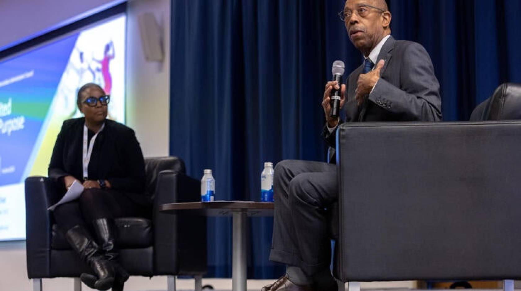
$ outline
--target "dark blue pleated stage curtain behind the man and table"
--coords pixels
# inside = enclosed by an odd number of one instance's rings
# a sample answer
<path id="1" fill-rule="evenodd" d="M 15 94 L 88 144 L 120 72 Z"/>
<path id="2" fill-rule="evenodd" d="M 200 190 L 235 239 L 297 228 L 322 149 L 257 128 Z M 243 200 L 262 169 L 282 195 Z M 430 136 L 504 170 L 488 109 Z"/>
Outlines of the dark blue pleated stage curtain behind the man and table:
<path id="1" fill-rule="evenodd" d="M 344 0 L 172 0 L 170 153 L 214 171 L 217 200 L 260 199 L 264 162 L 326 160 L 320 102 L 334 60 L 362 63 Z M 423 44 L 445 121 L 468 120 L 503 82 L 521 83 L 519 0 L 390 0 L 392 34 Z M 268 261 L 272 219 L 250 221 L 250 278 Z M 190 223 L 190 221 L 186 221 Z M 205 231 L 205 230 L 201 230 Z M 231 220 L 208 223 L 210 277 L 231 276 Z"/>

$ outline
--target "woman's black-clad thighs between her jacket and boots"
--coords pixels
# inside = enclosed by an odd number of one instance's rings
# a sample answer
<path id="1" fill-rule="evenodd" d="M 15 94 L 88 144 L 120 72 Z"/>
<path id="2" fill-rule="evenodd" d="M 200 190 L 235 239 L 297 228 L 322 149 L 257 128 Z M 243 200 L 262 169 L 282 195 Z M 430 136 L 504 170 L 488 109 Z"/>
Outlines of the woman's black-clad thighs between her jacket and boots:
<path id="1" fill-rule="evenodd" d="M 144 206 L 114 190 L 86 189 L 79 199 L 61 204 L 53 211 L 54 219 L 63 232 L 76 225 L 90 226 L 99 218 L 140 217 Z"/>

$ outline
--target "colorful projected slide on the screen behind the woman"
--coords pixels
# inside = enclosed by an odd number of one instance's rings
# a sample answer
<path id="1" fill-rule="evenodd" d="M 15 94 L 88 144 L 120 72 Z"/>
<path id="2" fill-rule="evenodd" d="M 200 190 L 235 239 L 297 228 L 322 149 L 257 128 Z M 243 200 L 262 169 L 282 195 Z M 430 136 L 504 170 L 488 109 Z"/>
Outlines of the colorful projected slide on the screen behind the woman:
<path id="1" fill-rule="evenodd" d="M 47 176 L 61 124 L 82 116 L 83 84 L 104 88 L 108 118 L 125 122 L 125 18 L 0 61 L 0 241 L 25 239 L 24 179 Z"/>

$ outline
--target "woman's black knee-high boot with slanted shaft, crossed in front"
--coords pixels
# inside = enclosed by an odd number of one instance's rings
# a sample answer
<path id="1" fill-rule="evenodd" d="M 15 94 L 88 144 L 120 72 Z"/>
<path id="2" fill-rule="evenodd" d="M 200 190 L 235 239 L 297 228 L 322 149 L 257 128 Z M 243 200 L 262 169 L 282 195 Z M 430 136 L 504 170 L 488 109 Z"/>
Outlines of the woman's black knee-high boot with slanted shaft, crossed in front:
<path id="1" fill-rule="evenodd" d="M 65 237 L 80 255 L 81 260 L 87 262 L 96 274 L 93 288 L 108 290 L 114 282 L 114 267 L 102 254 L 89 232 L 83 226 L 77 225 L 68 230 Z"/>

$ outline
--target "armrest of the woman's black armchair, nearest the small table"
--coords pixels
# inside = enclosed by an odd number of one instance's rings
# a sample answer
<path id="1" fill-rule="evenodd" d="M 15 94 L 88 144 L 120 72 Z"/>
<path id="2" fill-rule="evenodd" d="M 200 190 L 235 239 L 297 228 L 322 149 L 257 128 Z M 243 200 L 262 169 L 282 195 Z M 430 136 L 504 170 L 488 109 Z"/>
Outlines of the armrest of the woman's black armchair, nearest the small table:
<path id="1" fill-rule="evenodd" d="M 157 178 L 153 205 L 154 268 L 157 274 L 206 272 L 206 217 L 167 214 L 165 203 L 201 201 L 201 182 L 172 170 Z"/>

